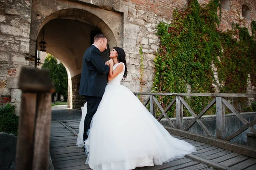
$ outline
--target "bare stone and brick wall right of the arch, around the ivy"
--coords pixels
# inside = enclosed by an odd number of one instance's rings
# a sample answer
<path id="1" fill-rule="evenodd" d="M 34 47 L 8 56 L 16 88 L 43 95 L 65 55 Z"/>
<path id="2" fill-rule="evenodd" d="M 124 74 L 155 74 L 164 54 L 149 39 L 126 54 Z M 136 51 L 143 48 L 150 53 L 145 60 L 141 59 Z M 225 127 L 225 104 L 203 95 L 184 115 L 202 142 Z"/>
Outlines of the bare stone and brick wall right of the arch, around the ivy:
<path id="1" fill-rule="evenodd" d="M 210 0 L 198 0 L 201 5 Z M 221 8 L 219 30 L 232 28 L 232 23 L 239 23 L 251 30 L 252 20 L 256 20 L 255 0 L 221 0 L 227 1 L 229 9 Z M 250 19 L 242 16 L 242 5 L 250 9 Z M 183 10 L 188 6 L 187 0 L 124 0 L 123 47 L 127 54 L 128 77 L 122 84 L 133 92 L 150 92 L 154 77 L 154 52 L 159 48 L 156 28 L 159 22 L 171 23 L 174 9 Z M 224 7 L 224 5 L 223 5 Z M 143 82 L 140 82 L 140 48 L 142 48 L 145 66 Z M 218 75 L 215 74 L 215 79 Z M 145 84 L 145 85 L 142 85 Z M 216 92 L 218 89 L 216 88 Z"/>

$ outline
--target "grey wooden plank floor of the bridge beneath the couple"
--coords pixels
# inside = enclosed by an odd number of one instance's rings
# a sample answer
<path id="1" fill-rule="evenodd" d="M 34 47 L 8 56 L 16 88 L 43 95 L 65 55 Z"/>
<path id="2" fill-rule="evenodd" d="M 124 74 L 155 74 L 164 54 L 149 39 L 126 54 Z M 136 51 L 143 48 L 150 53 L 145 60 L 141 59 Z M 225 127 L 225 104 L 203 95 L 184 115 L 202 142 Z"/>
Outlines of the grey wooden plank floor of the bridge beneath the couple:
<path id="1" fill-rule="evenodd" d="M 76 146 L 75 134 L 80 121 L 54 122 L 51 125 L 50 154 L 55 170 L 91 170 L 85 164 L 84 149 Z M 73 132 L 73 133 L 72 133 Z M 256 159 L 233 153 L 209 144 L 172 135 L 193 144 L 197 153 L 176 158 L 161 166 L 138 167 L 140 170 L 256 170 Z"/>

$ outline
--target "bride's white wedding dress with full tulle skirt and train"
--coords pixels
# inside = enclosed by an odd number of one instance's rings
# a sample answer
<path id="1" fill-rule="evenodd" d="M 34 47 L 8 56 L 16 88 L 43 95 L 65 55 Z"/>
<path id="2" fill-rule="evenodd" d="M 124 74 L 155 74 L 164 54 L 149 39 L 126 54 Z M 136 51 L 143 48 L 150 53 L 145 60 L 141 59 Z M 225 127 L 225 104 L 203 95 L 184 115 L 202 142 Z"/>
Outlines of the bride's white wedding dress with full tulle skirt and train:
<path id="1" fill-rule="evenodd" d="M 131 170 L 161 165 L 196 152 L 191 144 L 172 137 L 140 100 L 120 84 L 124 71 L 108 82 L 85 145 L 86 104 L 81 107 L 77 145 L 86 148 L 86 164 L 93 170 Z"/>

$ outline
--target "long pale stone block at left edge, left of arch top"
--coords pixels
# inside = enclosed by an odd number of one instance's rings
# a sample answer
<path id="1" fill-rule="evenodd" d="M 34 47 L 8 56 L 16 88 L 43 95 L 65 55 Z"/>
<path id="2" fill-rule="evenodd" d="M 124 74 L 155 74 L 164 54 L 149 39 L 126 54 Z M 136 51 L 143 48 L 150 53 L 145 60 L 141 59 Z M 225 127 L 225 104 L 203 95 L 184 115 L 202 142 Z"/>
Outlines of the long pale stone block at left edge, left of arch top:
<path id="1" fill-rule="evenodd" d="M 3 34 L 7 34 L 7 35 L 22 36 L 22 37 L 29 38 L 30 28 L 0 25 L 0 31 Z"/>

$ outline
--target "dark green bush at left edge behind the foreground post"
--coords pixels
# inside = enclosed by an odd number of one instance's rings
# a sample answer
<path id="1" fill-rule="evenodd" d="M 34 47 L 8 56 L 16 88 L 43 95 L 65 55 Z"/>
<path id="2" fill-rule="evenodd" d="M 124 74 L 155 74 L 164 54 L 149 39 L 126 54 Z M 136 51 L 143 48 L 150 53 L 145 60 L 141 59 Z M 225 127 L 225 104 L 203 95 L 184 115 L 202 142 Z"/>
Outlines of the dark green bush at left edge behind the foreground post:
<path id="1" fill-rule="evenodd" d="M 0 132 L 17 135 L 19 117 L 15 115 L 15 106 L 7 104 L 0 108 Z"/>

